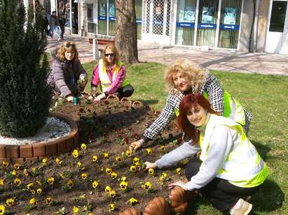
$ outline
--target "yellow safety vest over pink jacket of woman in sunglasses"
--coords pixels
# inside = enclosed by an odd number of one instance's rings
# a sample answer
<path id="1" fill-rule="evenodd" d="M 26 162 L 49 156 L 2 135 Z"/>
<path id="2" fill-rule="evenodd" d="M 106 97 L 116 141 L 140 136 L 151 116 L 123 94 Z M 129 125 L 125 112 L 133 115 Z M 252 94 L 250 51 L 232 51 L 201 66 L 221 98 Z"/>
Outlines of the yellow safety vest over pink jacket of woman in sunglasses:
<path id="1" fill-rule="evenodd" d="M 118 65 L 120 67 L 123 66 L 123 62 L 119 61 Z M 107 89 L 109 89 L 109 87 L 111 87 L 111 83 L 115 80 L 115 77 L 116 77 L 117 73 L 119 72 L 119 68 L 118 68 L 118 66 L 116 66 L 114 73 L 112 75 L 112 82 L 107 75 L 105 66 L 103 66 L 103 60 L 102 59 L 100 59 L 100 61 L 99 61 L 98 70 L 99 70 L 99 78 L 100 78 L 100 82 L 101 82 L 100 89 L 102 92 L 107 91 Z M 127 78 L 125 78 L 123 80 L 121 87 L 125 87 L 128 84 L 129 84 L 129 80 Z"/>

